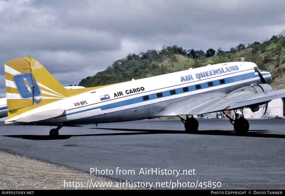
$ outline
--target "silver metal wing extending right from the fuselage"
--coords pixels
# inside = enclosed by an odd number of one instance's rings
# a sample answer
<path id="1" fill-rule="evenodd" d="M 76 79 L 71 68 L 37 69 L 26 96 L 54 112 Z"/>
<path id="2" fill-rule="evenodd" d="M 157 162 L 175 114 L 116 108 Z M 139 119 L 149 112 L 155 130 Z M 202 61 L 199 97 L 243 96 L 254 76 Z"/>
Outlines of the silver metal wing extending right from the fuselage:
<path id="1" fill-rule="evenodd" d="M 169 104 L 156 115 L 206 114 L 211 112 L 234 110 L 285 97 L 285 89 L 271 90 L 254 94 L 227 96 L 222 91 L 209 92 L 194 98 L 184 98 Z"/>

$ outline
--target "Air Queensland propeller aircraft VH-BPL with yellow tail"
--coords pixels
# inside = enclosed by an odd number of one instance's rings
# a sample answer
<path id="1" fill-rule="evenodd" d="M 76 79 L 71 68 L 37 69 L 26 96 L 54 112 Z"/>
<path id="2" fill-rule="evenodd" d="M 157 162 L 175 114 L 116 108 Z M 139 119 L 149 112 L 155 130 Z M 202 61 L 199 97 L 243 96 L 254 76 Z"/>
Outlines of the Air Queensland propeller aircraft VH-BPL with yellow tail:
<path id="1" fill-rule="evenodd" d="M 161 116 L 181 118 L 188 132 L 198 131 L 193 114 L 237 110 L 285 97 L 285 89 L 266 84 L 271 74 L 255 63 L 229 62 L 144 79 L 82 89 L 66 89 L 30 56 L 5 64 L 8 118 L 6 124 L 64 125 L 131 121 Z M 242 110 L 241 110 L 242 111 Z M 230 119 L 237 133 L 246 133 L 243 115 Z"/>

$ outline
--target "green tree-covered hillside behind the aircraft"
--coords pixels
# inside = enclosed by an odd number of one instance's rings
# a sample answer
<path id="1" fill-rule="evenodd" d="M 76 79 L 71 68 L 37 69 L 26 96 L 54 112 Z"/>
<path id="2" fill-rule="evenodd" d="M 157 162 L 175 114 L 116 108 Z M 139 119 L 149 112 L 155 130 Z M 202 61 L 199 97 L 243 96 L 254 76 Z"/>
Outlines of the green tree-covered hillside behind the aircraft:
<path id="1" fill-rule="evenodd" d="M 273 78 L 285 73 L 285 31 L 271 39 L 252 44 L 239 44 L 229 51 L 221 48 L 217 52 L 210 48 L 202 50 L 183 49 L 178 46 L 162 46 L 160 51 L 152 49 L 138 55 L 129 54 L 119 59 L 104 71 L 89 76 L 80 82 L 80 86 L 92 87 L 118 82 L 130 81 L 196 68 L 207 64 L 239 61 L 235 58 L 245 57 L 258 65 L 259 69 L 270 71 Z"/>

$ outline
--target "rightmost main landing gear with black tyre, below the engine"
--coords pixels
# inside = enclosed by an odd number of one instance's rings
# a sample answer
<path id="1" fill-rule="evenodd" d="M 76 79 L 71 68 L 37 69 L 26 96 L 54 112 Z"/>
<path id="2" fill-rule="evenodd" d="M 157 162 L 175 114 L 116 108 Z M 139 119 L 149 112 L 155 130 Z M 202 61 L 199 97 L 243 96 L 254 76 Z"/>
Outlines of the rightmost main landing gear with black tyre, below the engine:
<path id="1" fill-rule="evenodd" d="M 224 114 L 230 119 L 230 122 L 233 125 L 233 128 L 235 129 L 235 132 L 238 134 L 245 134 L 247 133 L 247 131 L 249 131 L 249 122 L 247 121 L 247 119 L 245 119 L 244 115 L 243 115 L 243 109 L 239 109 L 241 111 L 242 114 L 238 114 L 237 110 L 234 110 L 235 112 L 235 119 L 232 119 L 231 117 L 229 117 L 227 114 Z M 232 122 L 234 121 L 234 123 Z"/>

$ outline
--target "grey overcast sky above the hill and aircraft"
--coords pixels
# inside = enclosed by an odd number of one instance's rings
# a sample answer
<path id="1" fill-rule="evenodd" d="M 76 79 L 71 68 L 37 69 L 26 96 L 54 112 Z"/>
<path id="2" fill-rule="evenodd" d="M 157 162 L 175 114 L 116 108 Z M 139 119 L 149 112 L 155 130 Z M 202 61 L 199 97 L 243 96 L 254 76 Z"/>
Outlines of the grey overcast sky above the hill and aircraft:
<path id="1" fill-rule="evenodd" d="M 270 39 L 285 30 L 284 8 L 283 0 L 0 0 L 0 62 L 30 55 L 68 86 L 162 45 L 229 50 Z"/>

